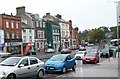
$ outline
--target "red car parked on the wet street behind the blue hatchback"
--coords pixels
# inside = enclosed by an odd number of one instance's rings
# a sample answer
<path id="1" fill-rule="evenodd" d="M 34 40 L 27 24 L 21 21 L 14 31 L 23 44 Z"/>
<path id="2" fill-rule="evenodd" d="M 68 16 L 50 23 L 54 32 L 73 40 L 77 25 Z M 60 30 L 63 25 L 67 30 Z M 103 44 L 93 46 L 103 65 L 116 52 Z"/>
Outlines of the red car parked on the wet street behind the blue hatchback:
<path id="1" fill-rule="evenodd" d="M 99 53 L 86 53 L 83 57 L 83 64 L 85 63 L 99 63 Z"/>

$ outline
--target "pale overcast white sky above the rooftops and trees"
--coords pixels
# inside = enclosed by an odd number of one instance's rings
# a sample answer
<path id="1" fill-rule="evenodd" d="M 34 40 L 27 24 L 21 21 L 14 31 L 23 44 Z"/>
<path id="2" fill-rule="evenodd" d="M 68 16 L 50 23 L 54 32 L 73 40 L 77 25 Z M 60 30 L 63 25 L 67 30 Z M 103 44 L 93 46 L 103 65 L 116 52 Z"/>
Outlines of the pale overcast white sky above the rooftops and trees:
<path id="1" fill-rule="evenodd" d="M 20 6 L 40 18 L 46 13 L 60 14 L 64 20 L 72 20 L 79 31 L 117 25 L 116 4 L 111 0 L 2 0 L 0 14 L 16 15 L 16 7 Z"/>

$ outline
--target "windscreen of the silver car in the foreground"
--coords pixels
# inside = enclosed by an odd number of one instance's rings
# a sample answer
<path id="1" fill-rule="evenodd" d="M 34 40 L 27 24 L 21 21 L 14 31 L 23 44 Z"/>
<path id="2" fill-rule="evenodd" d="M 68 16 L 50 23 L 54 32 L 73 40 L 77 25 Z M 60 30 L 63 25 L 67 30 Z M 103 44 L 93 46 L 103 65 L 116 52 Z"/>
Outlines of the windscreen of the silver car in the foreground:
<path id="1" fill-rule="evenodd" d="M 19 61 L 21 60 L 21 58 L 7 58 L 4 61 L 2 61 L 0 63 L 0 65 L 2 66 L 15 66 Z"/>

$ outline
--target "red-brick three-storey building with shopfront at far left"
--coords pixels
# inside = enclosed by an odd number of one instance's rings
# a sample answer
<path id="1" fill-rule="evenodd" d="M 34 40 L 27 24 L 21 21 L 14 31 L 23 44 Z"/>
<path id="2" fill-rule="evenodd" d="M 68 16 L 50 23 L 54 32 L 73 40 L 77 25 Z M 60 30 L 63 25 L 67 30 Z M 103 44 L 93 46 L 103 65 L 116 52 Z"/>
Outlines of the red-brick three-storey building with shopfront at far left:
<path id="1" fill-rule="evenodd" d="M 1 37 L 4 51 L 22 54 L 21 18 L 13 16 L 12 13 L 11 15 L 0 14 L 0 28 L 2 29 L 2 35 L 4 34 L 4 37 Z"/>

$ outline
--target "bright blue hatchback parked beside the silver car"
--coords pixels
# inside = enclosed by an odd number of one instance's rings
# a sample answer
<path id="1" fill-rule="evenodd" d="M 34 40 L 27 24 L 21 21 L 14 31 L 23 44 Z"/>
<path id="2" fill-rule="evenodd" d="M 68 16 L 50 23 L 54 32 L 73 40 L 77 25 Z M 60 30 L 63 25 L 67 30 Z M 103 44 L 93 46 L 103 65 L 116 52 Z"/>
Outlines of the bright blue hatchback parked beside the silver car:
<path id="1" fill-rule="evenodd" d="M 57 54 L 45 62 L 46 72 L 66 73 L 68 69 L 76 69 L 75 58 L 70 54 Z"/>

